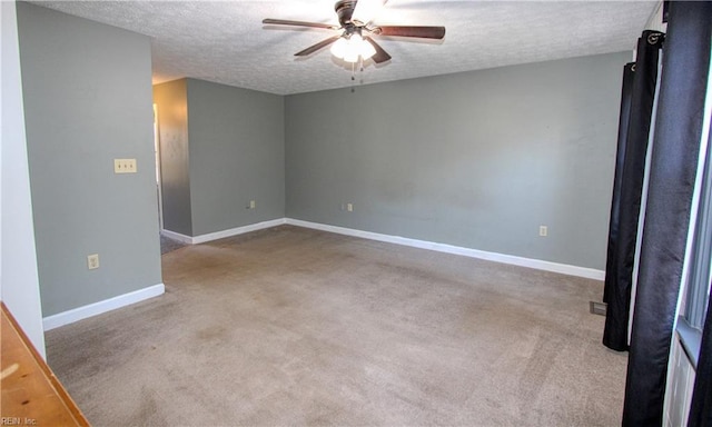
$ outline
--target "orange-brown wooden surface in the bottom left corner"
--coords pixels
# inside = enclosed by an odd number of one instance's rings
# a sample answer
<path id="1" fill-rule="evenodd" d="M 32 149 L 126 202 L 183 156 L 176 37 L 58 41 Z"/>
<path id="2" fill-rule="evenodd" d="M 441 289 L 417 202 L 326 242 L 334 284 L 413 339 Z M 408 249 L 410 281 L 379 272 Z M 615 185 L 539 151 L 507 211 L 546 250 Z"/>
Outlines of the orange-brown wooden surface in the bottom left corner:
<path id="1" fill-rule="evenodd" d="M 89 426 L 87 418 L 27 338 L 4 302 L 1 305 L 2 424 Z"/>

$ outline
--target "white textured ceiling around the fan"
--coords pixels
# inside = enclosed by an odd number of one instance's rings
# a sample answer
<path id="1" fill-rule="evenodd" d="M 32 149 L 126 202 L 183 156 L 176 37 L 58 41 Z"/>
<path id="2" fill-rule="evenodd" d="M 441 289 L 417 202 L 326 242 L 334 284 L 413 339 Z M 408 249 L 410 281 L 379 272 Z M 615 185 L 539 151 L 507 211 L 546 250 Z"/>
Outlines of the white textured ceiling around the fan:
<path id="1" fill-rule="evenodd" d="M 335 31 L 263 26 L 264 18 L 337 23 L 334 0 L 33 1 L 151 37 L 154 82 L 192 77 L 289 95 L 348 87 L 328 48 Z M 380 24 L 445 26 L 443 41 L 378 37 L 393 59 L 367 61 L 357 83 L 632 50 L 656 2 L 389 0 Z"/>

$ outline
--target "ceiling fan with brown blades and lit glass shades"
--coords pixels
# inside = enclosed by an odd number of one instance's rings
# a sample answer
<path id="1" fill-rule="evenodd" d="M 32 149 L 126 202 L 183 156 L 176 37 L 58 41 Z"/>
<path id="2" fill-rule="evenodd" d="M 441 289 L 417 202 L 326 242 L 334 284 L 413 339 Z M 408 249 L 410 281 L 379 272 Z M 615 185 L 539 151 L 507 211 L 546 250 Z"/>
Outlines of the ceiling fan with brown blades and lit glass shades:
<path id="1" fill-rule="evenodd" d="M 332 46 L 332 53 L 346 62 L 358 62 L 373 59 L 380 63 L 388 61 L 390 56 L 372 36 L 397 36 L 421 39 L 441 40 L 445 37 L 445 27 L 414 27 L 414 26 L 376 26 L 372 21 L 375 14 L 387 0 L 339 0 L 334 4 L 339 24 L 320 22 L 291 21 L 285 19 L 265 19 L 265 24 L 295 26 L 323 28 L 340 31 L 339 34 L 329 37 L 297 53 L 295 57 L 309 56 L 325 47 Z"/>

